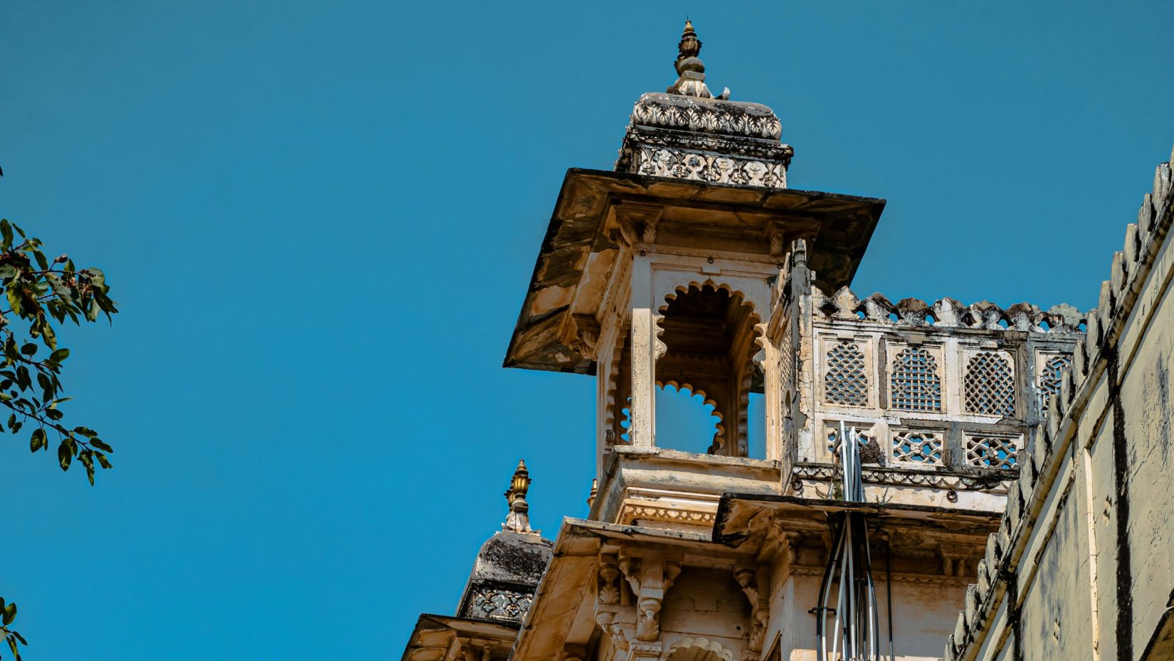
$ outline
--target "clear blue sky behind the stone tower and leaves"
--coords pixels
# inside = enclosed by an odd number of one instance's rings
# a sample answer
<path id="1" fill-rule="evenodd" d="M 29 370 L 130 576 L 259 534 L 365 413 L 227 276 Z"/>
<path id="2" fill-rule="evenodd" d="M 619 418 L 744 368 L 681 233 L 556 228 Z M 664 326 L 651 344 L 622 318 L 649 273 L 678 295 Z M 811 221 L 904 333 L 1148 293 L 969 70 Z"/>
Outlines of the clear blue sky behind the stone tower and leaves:
<path id="1" fill-rule="evenodd" d="M 501 358 L 686 13 L 792 187 L 889 200 L 858 292 L 1095 305 L 1174 141 L 1174 5 L 1024 5 L 4 4 L 0 215 L 123 310 L 63 338 L 115 468 L 0 437 L 26 657 L 398 659 L 519 457 L 538 527 L 582 515 L 592 380 Z"/>

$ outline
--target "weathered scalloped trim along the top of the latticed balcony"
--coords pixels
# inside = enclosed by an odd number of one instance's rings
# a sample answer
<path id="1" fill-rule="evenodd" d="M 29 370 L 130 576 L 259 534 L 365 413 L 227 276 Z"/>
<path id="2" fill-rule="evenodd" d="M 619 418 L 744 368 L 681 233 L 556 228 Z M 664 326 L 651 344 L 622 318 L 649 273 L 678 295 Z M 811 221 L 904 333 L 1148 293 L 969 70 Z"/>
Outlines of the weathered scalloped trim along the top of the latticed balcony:
<path id="1" fill-rule="evenodd" d="M 812 316 L 821 321 L 869 322 L 888 326 L 960 328 L 992 331 L 1028 331 L 1058 335 L 1079 335 L 1092 312 L 1081 313 L 1071 305 L 1054 305 L 1041 310 L 1030 303 L 1016 303 L 1007 309 L 990 301 L 963 305 L 953 298 L 942 298 L 932 304 L 920 298 L 903 298 L 891 303 L 882 294 L 865 299 L 843 286 L 832 296 L 818 288 L 811 290 Z M 929 321 L 932 318 L 932 321 Z M 1006 324 L 1006 325 L 1004 325 Z"/>

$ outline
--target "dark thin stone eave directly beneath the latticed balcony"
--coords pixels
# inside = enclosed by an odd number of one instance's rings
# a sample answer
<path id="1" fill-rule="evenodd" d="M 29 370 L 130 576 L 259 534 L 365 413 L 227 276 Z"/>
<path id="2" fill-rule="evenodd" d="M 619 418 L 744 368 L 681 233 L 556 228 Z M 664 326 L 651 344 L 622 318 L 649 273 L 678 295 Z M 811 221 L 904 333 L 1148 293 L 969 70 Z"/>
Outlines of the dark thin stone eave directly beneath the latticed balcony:
<path id="1" fill-rule="evenodd" d="M 785 513 L 811 517 L 818 513 L 861 512 L 880 520 L 883 527 L 937 527 L 993 532 L 1001 512 L 960 510 L 936 505 L 904 503 L 849 503 L 822 498 L 801 498 L 763 493 L 726 493 L 717 504 L 713 540 L 737 547 L 749 538 L 750 519 L 761 513 Z"/>

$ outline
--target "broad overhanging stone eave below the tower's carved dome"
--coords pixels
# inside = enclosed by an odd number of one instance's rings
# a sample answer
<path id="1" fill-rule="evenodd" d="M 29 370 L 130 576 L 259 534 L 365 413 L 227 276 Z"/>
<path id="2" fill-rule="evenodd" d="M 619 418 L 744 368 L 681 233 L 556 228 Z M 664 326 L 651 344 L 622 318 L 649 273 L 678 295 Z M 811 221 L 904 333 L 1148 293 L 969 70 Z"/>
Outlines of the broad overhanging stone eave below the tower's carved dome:
<path id="1" fill-rule="evenodd" d="M 531 275 L 526 298 L 510 338 L 505 367 L 593 375 L 595 364 L 560 339 L 560 330 L 573 313 L 571 305 L 544 309 L 539 294 L 565 289 L 575 301 L 591 252 L 613 248 L 601 236 L 608 210 L 623 201 L 640 204 L 701 207 L 720 211 L 753 213 L 816 221 L 809 241 L 809 264 L 816 282 L 836 291 L 852 282 L 885 201 L 838 193 L 713 184 L 571 168 L 567 170 Z M 576 306 L 598 308 L 599 301 L 578 301 Z"/>

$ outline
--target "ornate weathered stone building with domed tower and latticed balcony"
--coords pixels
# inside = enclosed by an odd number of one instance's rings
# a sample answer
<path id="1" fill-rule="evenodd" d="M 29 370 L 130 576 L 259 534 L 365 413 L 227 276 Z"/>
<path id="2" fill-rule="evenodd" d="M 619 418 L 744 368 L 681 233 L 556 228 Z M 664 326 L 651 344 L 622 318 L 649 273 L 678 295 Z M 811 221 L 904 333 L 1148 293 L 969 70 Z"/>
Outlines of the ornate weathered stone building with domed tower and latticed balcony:
<path id="1" fill-rule="evenodd" d="M 1174 488 L 1168 166 L 1088 315 L 861 298 L 884 201 L 787 188 L 778 117 L 715 96 L 700 49 L 686 23 L 677 80 L 636 101 L 614 170 L 567 171 L 505 358 L 595 377 L 589 514 L 542 539 L 519 465 L 457 615 L 421 615 L 404 660 L 832 659 L 817 629 L 835 638 L 857 606 L 829 587 L 865 582 L 861 635 L 884 657 L 1067 659 L 1060 639 L 1072 657 L 1140 653 L 1174 587 L 1174 551 L 1139 555 L 1169 538 Z M 708 452 L 657 436 L 664 386 L 713 405 Z M 1160 414 L 1131 429 L 1131 400 Z M 1145 468 L 1126 477 L 1131 460 Z M 1131 511 L 1138 479 L 1165 498 Z M 865 582 L 830 561 L 857 524 Z"/>

